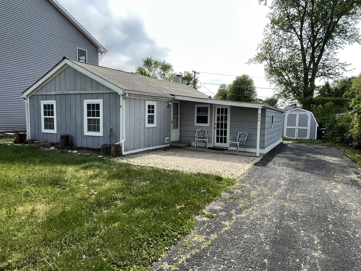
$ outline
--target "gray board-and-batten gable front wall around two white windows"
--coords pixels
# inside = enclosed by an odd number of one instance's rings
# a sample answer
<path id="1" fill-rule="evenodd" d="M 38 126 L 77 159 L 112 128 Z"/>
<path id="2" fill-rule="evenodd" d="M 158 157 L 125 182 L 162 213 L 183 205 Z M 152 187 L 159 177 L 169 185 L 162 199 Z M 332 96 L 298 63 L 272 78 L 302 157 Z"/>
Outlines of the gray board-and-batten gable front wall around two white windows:
<path id="1" fill-rule="evenodd" d="M 103 136 L 84 135 L 84 100 L 103 100 Z M 41 101 L 56 101 L 57 133 L 42 133 Z M 120 139 L 120 96 L 84 74 L 67 67 L 29 97 L 30 137 L 36 141 L 58 142 L 70 134 L 73 146 L 100 148 Z"/>

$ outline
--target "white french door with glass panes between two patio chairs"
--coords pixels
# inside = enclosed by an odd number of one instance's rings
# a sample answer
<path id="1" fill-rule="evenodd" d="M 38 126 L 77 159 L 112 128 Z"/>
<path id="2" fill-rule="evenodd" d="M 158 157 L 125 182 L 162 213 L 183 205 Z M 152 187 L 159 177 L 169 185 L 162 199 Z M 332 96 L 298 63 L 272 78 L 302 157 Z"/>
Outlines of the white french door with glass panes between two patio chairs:
<path id="1" fill-rule="evenodd" d="M 228 147 L 230 111 L 229 106 L 214 107 L 213 145 L 216 147 Z"/>

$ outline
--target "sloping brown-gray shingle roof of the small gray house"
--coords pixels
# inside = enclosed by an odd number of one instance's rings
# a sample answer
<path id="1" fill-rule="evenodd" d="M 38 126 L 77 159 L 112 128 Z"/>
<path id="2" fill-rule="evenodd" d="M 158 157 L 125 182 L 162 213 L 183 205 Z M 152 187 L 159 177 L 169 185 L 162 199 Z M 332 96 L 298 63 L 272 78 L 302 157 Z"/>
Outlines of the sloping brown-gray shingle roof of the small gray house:
<path id="1" fill-rule="evenodd" d="M 70 59 L 74 63 L 82 66 L 88 71 L 104 78 L 106 81 L 121 87 L 123 90 L 140 91 L 143 93 L 153 93 L 162 95 L 179 95 L 192 98 L 208 98 L 208 95 L 193 89 L 185 84 L 164 81 L 152 77 L 143 76 L 136 73 L 123 72 L 97 66 L 93 64 L 83 63 Z"/>

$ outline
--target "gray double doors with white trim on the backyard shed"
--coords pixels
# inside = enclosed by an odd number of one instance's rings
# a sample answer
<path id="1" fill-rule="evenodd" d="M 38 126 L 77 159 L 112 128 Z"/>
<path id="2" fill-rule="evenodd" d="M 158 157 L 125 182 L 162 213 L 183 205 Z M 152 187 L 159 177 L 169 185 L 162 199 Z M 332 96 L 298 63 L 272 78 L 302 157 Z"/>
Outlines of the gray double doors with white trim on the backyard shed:
<path id="1" fill-rule="evenodd" d="M 308 139 L 310 118 L 310 113 L 286 113 L 285 136 L 293 139 Z"/>

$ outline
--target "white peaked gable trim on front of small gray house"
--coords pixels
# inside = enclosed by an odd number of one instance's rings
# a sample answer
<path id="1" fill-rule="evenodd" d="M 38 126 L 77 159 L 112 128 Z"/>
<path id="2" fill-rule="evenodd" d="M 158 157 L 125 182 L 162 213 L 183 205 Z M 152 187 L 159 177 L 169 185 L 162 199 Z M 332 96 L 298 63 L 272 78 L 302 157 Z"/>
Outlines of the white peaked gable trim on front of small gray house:
<path id="1" fill-rule="evenodd" d="M 23 93 L 22 97 L 29 98 L 32 94 L 34 94 L 36 91 L 38 91 L 40 89 L 40 87 L 44 86 L 46 83 L 48 83 L 52 78 L 54 78 L 57 74 L 59 74 L 62 70 L 64 70 L 68 66 L 77 70 L 80 73 L 85 74 L 86 76 L 101 83 L 102 85 L 117 92 L 118 94 L 123 94 L 123 90 L 120 87 L 114 85 L 113 83 L 110 83 L 109 81 L 106 81 L 104 78 L 97 76 L 96 74 L 90 72 L 89 70 L 83 68 L 82 66 L 79 66 L 78 64 L 74 63 L 73 61 L 71 61 L 69 59 L 64 59 L 60 63 L 58 63 L 54 68 L 52 68 L 47 74 L 45 74 L 45 76 L 43 76 L 38 81 L 36 81 L 34 83 L 34 85 L 29 87 L 29 89 L 27 89 Z"/>

